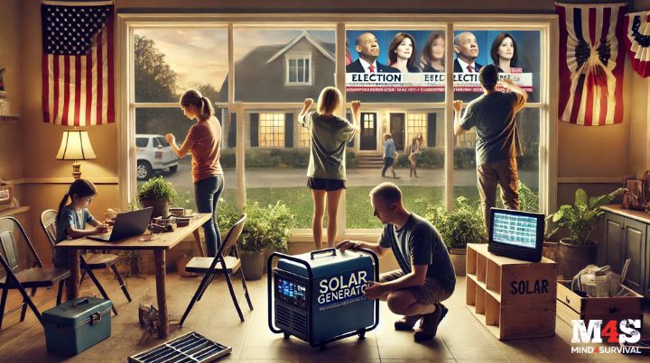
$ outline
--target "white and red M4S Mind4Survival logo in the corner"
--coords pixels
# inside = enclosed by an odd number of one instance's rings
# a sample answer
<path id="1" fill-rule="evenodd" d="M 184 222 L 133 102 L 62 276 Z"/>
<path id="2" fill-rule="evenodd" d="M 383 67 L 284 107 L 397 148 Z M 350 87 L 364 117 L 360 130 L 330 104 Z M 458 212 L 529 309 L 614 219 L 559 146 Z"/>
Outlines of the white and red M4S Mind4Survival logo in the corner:
<path id="1" fill-rule="evenodd" d="M 571 353 L 604 354 L 604 353 L 631 353 L 639 354 L 638 347 L 627 347 L 625 343 L 636 343 L 641 340 L 641 320 L 623 319 L 620 322 L 610 320 L 603 324 L 602 320 L 572 320 L 573 335 L 571 343 L 601 344 L 615 343 L 615 347 L 573 346 Z"/>

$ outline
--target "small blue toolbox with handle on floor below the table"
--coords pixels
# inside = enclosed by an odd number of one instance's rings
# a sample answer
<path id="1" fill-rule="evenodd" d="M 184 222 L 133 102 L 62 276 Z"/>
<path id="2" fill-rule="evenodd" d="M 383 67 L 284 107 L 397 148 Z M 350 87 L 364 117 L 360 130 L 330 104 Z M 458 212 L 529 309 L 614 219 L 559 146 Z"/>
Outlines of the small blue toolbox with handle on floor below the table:
<path id="1" fill-rule="evenodd" d="M 42 313 L 48 351 L 74 356 L 110 337 L 110 300 L 79 297 Z"/>

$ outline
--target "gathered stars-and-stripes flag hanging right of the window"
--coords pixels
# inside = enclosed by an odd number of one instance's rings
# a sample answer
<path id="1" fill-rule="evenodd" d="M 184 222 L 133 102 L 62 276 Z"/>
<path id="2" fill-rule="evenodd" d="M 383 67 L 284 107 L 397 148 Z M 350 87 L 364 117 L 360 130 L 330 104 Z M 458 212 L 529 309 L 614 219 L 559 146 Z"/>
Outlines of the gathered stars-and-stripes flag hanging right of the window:
<path id="1" fill-rule="evenodd" d="M 559 116 L 598 126 L 623 122 L 625 4 L 556 3 L 560 15 Z"/>

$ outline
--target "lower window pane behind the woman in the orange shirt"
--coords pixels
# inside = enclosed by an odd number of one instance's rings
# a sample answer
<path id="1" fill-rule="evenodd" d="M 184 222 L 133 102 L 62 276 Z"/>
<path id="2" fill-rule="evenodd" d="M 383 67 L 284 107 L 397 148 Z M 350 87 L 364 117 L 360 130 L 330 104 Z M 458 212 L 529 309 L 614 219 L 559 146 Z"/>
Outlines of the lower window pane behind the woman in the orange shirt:
<path id="1" fill-rule="evenodd" d="M 222 145 L 228 141 L 230 127 L 228 126 L 228 112 L 224 109 L 216 109 L 217 118 L 224 120 Z M 141 140 L 160 140 L 166 133 L 172 133 L 176 137 L 176 143 L 181 145 L 185 140 L 192 121 L 188 120 L 180 108 L 137 108 L 135 109 L 135 141 L 137 148 L 137 167 L 135 170 L 138 184 L 154 175 L 161 175 L 165 181 L 172 183 L 172 186 L 179 195 L 176 203 L 184 208 L 197 211 L 194 202 L 194 185 L 191 178 L 191 156 L 184 159 L 176 158 L 172 147 L 166 142 L 162 149 L 153 148 L 153 142 L 149 146 L 140 147 Z M 237 205 L 237 175 L 235 173 L 235 150 L 221 150 L 221 167 L 224 169 L 225 190 L 221 195 L 230 206 Z M 135 180 L 133 181 L 135 182 Z M 221 209 L 225 205 L 220 205 Z"/>

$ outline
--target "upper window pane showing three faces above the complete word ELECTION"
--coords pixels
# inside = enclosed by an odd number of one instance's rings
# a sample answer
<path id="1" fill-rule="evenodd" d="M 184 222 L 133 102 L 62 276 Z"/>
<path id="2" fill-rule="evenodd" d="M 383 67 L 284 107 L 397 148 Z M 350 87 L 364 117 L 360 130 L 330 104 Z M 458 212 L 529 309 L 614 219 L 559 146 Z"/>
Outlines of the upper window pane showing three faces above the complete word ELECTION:
<path id="1" fill-rule="evenodd" d="M 355 30 L 346 38 L 348 100 L 444 101 L 444 32 Z"/>

